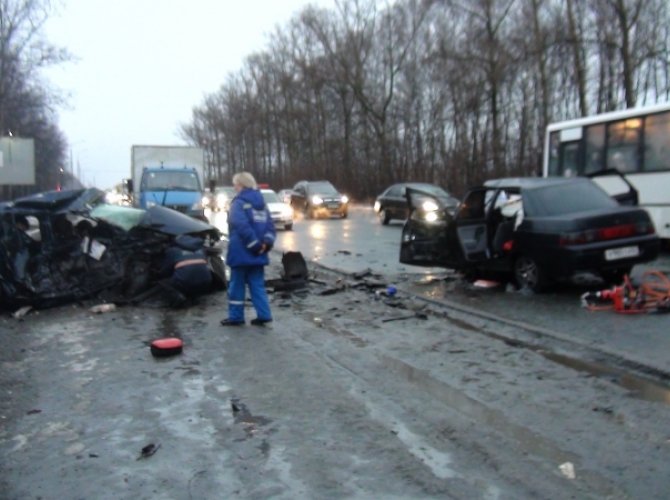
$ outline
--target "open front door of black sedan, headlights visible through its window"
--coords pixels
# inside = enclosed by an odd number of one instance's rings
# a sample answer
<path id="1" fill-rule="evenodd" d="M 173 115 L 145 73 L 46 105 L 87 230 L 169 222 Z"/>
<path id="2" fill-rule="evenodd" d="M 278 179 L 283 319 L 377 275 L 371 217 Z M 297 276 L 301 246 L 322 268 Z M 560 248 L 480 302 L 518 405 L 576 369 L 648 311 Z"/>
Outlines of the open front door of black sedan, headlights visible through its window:
<path id="1" fill-rule="evenodd" d="M 439 199 L 408 187 L 405 198 L 409 216 L 400 241 L 400 262 L 414 266 L 453 267 L 453 244 L 448 231 L 453 217 Z"/>

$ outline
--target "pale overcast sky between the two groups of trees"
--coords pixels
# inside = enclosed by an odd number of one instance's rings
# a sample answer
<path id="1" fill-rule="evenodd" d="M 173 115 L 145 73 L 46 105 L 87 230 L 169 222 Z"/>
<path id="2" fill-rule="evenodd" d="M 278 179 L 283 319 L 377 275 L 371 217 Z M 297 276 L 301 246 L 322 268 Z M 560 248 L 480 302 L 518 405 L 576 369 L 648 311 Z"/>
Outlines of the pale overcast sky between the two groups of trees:
<path id="1" fill-rule="evenodd" d="M 191 110 L 307 4 L 335 0 L 62 0 L 49 41 L 76 58 L 46 73 L 69 95 L 59 123 L 74 171 L 106 189 L 133 144 L 183 144 Z"/>

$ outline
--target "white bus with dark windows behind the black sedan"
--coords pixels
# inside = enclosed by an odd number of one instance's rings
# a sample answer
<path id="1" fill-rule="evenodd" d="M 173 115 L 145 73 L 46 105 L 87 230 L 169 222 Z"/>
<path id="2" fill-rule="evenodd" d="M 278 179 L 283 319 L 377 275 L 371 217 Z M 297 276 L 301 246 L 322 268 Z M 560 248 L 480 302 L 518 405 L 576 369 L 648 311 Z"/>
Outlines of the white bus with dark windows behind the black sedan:
<path id="1" fill-rule="evenodd" d="M 615 168 L 637 189 L 658 235 L 670 239 L 670 102 L 578 118 L 547 127 L 542 175 L 591 175 Z M 614 175 L 594 178 L 611 195 Z"/>

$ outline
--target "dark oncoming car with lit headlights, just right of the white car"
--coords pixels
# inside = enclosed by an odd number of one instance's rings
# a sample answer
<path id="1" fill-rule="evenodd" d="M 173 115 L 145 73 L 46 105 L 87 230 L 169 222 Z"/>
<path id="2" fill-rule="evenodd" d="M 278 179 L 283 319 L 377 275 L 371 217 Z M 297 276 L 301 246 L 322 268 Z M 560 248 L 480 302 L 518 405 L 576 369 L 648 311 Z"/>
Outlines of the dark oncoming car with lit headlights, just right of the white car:
<path id="1" fill-rule="evenodd" d="M 344 219 L 349 213 L 349 198 L 329 181 L 300 181 L 293 187 L 291 206 L 308 219 L 322 215 Z"/>

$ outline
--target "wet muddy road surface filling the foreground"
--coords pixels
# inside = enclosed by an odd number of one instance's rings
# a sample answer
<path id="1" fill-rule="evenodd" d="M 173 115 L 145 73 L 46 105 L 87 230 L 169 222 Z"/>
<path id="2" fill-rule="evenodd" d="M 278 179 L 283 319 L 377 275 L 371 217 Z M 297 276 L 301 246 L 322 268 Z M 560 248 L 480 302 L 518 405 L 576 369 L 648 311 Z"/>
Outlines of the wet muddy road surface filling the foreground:
<path id="1" fill-rule="evenodd" d="M 82 304 L 0 318 L 0 496 L 670 491 L 667 403 L 484 334 L 509 325 L 402 293 L 319 295 L 338 275 L 312 272 L 328 285 L 273 294 L 271 328 L 221 327 L 225 293 L 179 311 Z M 184 352 L 152 357 L 148 343 L 165 336 Z"/>

